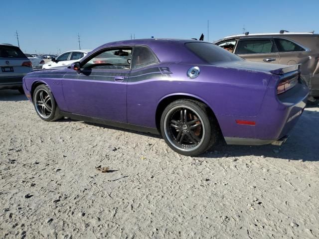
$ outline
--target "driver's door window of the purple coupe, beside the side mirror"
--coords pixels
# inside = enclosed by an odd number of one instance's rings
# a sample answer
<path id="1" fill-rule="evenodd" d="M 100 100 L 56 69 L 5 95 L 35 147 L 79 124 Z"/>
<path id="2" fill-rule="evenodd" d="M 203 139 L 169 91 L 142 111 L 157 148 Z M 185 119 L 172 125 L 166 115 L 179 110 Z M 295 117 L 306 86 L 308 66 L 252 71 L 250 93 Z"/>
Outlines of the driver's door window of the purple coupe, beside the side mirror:
<path id="1" fill-rule="evenodd" d="M 131 59 L 132 48 L 113 48 L 94 55 L 83 68 L 129 70 Z"/>

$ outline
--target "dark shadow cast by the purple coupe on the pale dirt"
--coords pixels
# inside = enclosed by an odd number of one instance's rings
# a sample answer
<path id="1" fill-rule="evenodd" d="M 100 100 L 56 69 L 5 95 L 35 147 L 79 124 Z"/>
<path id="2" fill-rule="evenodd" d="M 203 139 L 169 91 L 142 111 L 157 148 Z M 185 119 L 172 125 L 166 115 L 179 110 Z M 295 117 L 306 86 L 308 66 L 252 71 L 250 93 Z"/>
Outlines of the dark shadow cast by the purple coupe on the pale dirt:
<path id="1" fill-rule="evenodd" d="M 296 126 L 290 133 L 290 137 L 281 146 L 277 145 L 227 145 L 221 141 L 206 153 L 199 155 L 199 158 L 220 158 L 220 157 L 240 157 L 240 156 L 264 156 L 286 160 L 319 161 L 319 112 L 307 110 L 299 119 Z M 61 119 L 60 121 L 77 121 L 73 119 Z M 155 138 L 162 138 L 160 135 L 137 132 L 117 128 L 113 126 L 84 122 L 96 127 L 122 130 L 124 132 L 146 135 Z"/>

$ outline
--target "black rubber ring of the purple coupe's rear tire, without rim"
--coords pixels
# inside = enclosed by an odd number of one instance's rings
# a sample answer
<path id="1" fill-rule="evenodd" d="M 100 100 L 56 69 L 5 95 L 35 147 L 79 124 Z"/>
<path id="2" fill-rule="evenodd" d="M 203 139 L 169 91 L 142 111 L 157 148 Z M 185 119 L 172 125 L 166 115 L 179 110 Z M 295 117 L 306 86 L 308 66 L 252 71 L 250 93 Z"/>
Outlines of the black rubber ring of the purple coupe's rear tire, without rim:
<path id="1" fill-rule="evenodd" d="M 201 104 L 203 105 L 203 104 Z M 167 136 L 165 134 L 165 130 L 164 127 L 166 127 L 166 125 L 164 125 L 164 119 L 165 116 L 167 115 L 167 113 L 169 112 L 170 109 L 174 108 L 174 107 L 183 107 L 183 106 L 187 106 L 189 108 L 191 108 L 192 110 L 194 110 L 199 117 L 202 119 L 202 123 L 204 124 L 204 130 L 205 130 L 205 134 L 204 134 L 204 138 L 203 141 L 201 143 L 201 145 L 191 151 L 183 151 L 180 150 L 178 148 L 176 148 L 174 145 L 172 145 L 169 140 L 167 139 Z M 207 113 L 202 109 L 202 107 L 199 106 L 199 104 L 194 103 L 193 101 L 189 101 L 189 100 L 178 100 L 178 101 L 174 101 L 171 104 L 169 104 L 165 110 L 162 113 L 161 119 L 160 119 L 160 131 L 161 131 L 161 135 L 164 138 L 165 142 L 168 144 L 168 146 L 174 150 L 175 152 L 182 154 L 182 155 L 186 155 L 186 156 L 194 156 L 194 155 L 199 155 L 201 153 L 204 153 L 207 150 L 207 147 L 209 146 L 210 142 L 211 142 L 211 130 L 212 130 L 212 122 L 211 119 L 209 118 L 209 116 L 207 115 Z"/>

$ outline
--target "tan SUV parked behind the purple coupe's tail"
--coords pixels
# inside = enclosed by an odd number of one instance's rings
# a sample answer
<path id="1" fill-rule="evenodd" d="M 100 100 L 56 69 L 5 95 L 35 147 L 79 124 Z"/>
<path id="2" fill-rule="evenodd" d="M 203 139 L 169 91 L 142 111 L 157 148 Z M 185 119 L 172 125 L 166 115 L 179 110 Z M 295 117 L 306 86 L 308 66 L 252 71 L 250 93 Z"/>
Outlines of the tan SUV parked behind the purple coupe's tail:
<path id="1" fill-rule="evenodd" d="M 255 62 L 301 65 L 309 89 L 309 100 L 319 99 L 319 34 L 313 32 L 232 35 L 214 42 L 240 57 Z"/>

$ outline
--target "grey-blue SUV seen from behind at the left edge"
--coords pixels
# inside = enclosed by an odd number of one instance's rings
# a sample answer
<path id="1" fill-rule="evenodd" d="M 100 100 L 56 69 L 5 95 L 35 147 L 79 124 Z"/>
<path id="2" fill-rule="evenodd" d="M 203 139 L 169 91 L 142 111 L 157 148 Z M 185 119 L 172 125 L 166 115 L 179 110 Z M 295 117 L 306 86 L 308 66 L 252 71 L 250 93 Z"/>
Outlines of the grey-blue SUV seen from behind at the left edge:
<path id="1" fill-rule="evenodd" d="M 0 89 L 16 89 L 24 94 L 22 78 L 32 71 L 32 63 L 17 46 L 0 44 L 0 68 Z"/>

